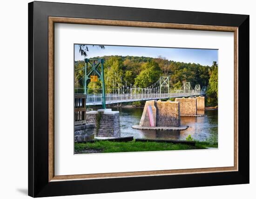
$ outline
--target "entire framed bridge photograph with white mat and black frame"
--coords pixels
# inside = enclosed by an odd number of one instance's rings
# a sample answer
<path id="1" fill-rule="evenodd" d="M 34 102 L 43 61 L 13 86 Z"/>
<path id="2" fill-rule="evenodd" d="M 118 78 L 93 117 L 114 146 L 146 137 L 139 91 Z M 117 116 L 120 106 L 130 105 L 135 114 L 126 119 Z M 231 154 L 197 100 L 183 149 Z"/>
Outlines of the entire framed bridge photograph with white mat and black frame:
<path id="1" fill-rule="evenodd" d="M 249 183 L 248 15 L 35 1 L 28 49 L 30 196 Z"/>

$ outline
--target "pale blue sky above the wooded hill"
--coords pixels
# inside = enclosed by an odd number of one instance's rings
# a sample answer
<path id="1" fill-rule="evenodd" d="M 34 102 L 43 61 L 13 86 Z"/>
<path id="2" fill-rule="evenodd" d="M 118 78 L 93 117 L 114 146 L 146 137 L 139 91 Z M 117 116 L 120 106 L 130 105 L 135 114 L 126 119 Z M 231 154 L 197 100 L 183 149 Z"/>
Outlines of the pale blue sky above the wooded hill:
<path id="1" fill-rule="evenodd" d="M 193 49 L 193 48 L 164 48 L 164 47 L 140 47 L 140 46 L 107 46 L 101 49 L 99 46 L 88 45 L 88 57 L 102 57 L 104 55 L 122 56 L 144 56 L 157 58 L 165 57 L 167 60 L 174 60 L 187 63 L 196 63 L 211 66 L 213 61 L 218 63 L 218 50 L 216 49 Z M 74 47 L 74 60 L 84 60 L 79 53 L 79 45 Z"/>

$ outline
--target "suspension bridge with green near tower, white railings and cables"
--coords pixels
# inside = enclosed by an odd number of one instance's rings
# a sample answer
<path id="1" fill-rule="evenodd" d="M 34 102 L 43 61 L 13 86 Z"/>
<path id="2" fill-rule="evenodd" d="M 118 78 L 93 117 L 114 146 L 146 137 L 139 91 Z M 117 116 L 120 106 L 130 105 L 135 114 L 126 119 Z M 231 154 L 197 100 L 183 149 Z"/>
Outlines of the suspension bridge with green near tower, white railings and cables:
<path id="1" fill-rule="evenodd" d="M 168 99 L 177 97 L 192 97 L 204 95 L 206 86 L 201 88 L 200 85 L 195 85 L 192 88 L 190 82 L 184 82 L 180 89 L 174 89 L 170 86 L 170 79 L 168 76 L 161 76 L 155 83 L 146 88 L 135 86 L 128 81 L 121 78 L 104 78 L 103 63 L 104 60 L 100 59 L 97 63 L 91 63 L 90 60 L 85 59 L 86 66 L 81 69 L 75 69 L 75 73 L 79 70 L 85 70 L 82 78 L 83 87 L 78 87 L 75 84 L 75 94 L 86 94 L 86 105 L 103 105 L 116 104 L 122 102 L 144 101 L 153 99 Z M 101 71 L 97 67 L 101 66 Z M 89 70 L 88 70 L 89 69 Z M 89 73 L 88 73 L 89 71 Z M 99 76 L 101 80 L 101 88 L 88 88 L 88 80 L 92 79 L 92 74 Z M 104 82 L 104 80 L 106 82 Z"/>

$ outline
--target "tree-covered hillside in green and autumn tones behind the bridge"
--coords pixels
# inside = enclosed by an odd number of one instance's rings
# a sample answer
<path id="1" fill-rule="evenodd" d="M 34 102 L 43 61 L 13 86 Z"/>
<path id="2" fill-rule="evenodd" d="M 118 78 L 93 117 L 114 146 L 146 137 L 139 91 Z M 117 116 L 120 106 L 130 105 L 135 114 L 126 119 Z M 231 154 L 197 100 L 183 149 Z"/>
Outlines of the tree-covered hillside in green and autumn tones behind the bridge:
<path id="1" fill-rule="evenodd" d="M 183 63 L 166 60 L 163 57 L 135 57 L 135 56 L 104 56 L 104 73 L 106 93 L 110 93 L 112 83 L 121 83 L 121 80 L 141 88 L 155 83 L 161 76 L 170 77 L 172 88 L 181 88 L 183 82 L 190 82 L 194 88 L 196 84 L 207 86 L 207 105 L 216 106 L 218 96 L 218 66 L 213 62 L 212 66 L 202 66 L 195 63 Z M 99 59 L 99 57 L 94 57 Z M 75 87 L 83 87 L 83 73 L 81 68 L 85 66 L 84 61 L 76 61 Z M 100 92 L 101 82 L 90 82 L 88 93 Z"/>

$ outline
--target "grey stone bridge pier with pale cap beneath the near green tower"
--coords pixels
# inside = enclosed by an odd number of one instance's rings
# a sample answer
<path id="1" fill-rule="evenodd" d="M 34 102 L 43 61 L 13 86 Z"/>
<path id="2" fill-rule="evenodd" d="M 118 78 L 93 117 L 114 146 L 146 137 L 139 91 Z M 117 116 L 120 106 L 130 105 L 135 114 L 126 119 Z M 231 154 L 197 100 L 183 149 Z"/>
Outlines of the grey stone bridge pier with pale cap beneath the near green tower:
<path id="1" fill-rule="evenodd" d="M 97 124 L 97 115 L 100 117 L 100 125 Z M 114 137 L 120 138 L 120 118 L 119 111 L 111 109 L 101 109 L 98 111 L 86 112 L 86 123 L 95 124 L 94 134 L 97 137 Z"/>

